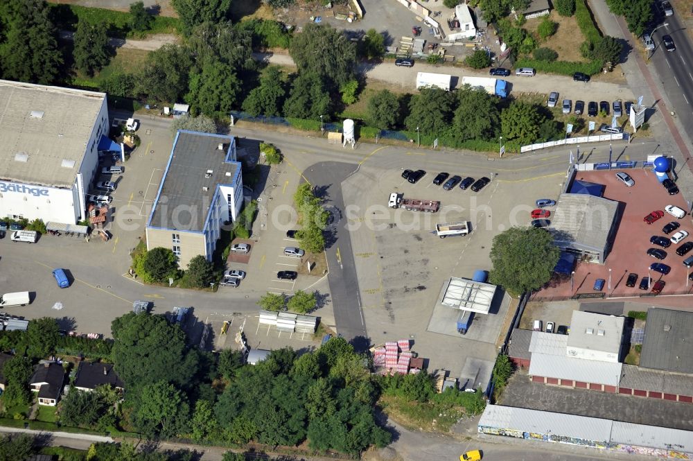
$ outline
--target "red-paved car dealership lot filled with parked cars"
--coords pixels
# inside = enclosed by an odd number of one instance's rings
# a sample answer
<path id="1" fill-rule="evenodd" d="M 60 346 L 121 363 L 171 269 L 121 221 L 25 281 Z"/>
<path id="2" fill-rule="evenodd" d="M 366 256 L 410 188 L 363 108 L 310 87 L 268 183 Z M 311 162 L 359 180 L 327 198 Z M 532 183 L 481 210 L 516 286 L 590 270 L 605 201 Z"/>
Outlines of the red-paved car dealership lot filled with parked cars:
<path id="1" fill-rule="evenodd" d="M 647 293 L 647 290 L 638 289 L 642 277 L 648 276 L 648 268 L 651 263 L 664 263 L 672 270 L 668 275 L 660 275 L 651 271 L 653 282 L 662 279 L 666 286 L 662 295 L 687 294 L 693 289 L 693 282 L 687 279 L 689 270 L 683 266 L 685 256 L 678 256 L 676 248 L 690 241 L 692 236 L 685 238 L 681 243 L 672 243 L 665 248 L 667 256 L 662 261 L 647 255 L 649 248 L 658 248 L 650 243 L 651 236 L 664 236 L 669 239 L 674 232 L 666 236 L 662 229 L 667 223 L 675 221 L 681 225 L 677 230 L 685 230 L 693 235 L 693 225 L 690 214 L 682 219 L 676 219 L 667 213 L 651 225 L 644 223 L 643 218 L 651 211 L 664 210 L 667 205 L 676 205 L 684 210 L 690 206 L 681 193 L 669 195 L 664 187 L 658 183 L 655 175 L 648 169 L 634 168 L 626 171 L 635 185 L 626 187 L 617 181 L 615 170 L 612 171 L 581 171 L 576 179 L 584 179 L 589 182 L 604 184 L 604 198 L 616 200 L 624 205 L 623 216 L 617 229 L 616 238 L 611 253 L 606 257 L 604 265 L 595 263 L 579 263 L 575 268 L 574 289 L 571 290 L 570 279 L 545 288 L 538 293 L 540 297 L 570 297 L 573 293 L 594 293 L 593 286 L 596 279 L 606 280 L 604 293 L 608 297 L 632 297 Z M 609 272 L 611 270 L 611 288 L 609 288 Z M 626 279 L 630 272 L 638 274 L 635 287 L 626 287 Z M 652 282 L 652 283 L 653 283 Z"/>

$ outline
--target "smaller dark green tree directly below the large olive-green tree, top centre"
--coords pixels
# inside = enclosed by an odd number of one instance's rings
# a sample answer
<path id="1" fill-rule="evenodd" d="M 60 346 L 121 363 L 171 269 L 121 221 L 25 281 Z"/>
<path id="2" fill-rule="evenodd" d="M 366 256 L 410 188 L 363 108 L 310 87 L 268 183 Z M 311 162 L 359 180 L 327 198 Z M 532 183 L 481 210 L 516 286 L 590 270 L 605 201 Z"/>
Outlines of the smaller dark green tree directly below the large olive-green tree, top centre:
<path id="1" fill-rule="evenodd" d="M 319 119 L 330 114 L 330 101 L 319 74 L 306 71 L 293 81 L 284 114 L 297 119 Z"/>

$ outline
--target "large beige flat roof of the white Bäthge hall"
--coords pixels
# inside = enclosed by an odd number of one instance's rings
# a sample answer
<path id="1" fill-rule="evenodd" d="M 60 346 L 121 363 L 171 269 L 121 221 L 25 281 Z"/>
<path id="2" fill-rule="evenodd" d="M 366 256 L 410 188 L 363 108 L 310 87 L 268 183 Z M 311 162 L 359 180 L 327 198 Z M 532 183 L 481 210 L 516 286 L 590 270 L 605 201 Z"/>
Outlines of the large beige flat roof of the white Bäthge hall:
<path id="1" fill-rule="evenodd" d="M 0 180 L 71 188 L 105 98 L 0 80 Z"/>

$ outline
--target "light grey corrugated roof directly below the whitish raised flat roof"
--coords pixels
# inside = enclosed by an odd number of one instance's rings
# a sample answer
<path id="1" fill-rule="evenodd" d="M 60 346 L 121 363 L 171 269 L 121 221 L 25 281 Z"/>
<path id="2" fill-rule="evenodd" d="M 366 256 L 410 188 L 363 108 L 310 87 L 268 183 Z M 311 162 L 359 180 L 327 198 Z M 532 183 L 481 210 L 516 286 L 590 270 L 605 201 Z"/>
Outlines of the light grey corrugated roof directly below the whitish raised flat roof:
<path id="1" fill-rule="evenodd" d="M 572 379 L 586 383 L 618 385 L 621 367 L 621 363 L 532 353 L 532 361 L 529 363 L 529 374 L 532 376 Z"/>

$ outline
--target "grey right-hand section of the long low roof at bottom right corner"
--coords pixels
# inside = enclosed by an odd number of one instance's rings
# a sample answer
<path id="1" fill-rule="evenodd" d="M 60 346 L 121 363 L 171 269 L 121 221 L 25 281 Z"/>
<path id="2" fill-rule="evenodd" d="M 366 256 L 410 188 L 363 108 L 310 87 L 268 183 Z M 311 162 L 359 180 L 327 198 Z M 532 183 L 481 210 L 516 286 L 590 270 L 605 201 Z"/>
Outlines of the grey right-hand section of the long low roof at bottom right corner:
<path id="1" fill-rule="evenodd" d="M 693 432 L 613 421 L 611 443 L 693 453 Z"/>

